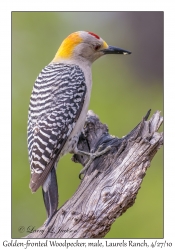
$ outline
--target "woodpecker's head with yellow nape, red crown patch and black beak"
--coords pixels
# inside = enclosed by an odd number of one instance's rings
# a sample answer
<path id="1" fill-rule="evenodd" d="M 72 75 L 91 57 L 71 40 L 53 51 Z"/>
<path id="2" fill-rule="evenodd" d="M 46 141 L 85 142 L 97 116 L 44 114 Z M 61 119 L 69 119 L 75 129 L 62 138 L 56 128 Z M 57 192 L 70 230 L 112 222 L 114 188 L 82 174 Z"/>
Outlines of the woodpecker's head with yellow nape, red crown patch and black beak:
<path id="1" fill-rule="evenodd" d="M 131 54 L 131 52 L 108 45 L 98 35 L 88 31 L 77 31 L 70 34 L 59 47 L 52 62 L 78 59 L 93 63 L 105 54 Z"/>

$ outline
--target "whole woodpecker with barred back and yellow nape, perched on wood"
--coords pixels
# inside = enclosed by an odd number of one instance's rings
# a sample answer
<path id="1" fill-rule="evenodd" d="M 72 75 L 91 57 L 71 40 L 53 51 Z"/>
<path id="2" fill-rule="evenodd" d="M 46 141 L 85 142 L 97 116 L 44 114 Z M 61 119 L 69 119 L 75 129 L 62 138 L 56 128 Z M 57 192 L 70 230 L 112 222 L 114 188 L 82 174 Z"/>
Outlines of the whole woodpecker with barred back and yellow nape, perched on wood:
<path id="1" fill-rule="evenodd" d="M 72 33 L 35 81 L 27 128 L 31 170 L 29 186 L 32 192 L 42 186 L 48 217 L 46 224 L 58 206 L 56 167 L 60 157 L 67 153 L 92 156 L 79 151 L 77 142 L 90 101 L 91 65 L 105 54 L 125 55 L 131 52 L 108 45 L 92 32 Z M 93 154 L 92 159 L 103 153 Z"/>

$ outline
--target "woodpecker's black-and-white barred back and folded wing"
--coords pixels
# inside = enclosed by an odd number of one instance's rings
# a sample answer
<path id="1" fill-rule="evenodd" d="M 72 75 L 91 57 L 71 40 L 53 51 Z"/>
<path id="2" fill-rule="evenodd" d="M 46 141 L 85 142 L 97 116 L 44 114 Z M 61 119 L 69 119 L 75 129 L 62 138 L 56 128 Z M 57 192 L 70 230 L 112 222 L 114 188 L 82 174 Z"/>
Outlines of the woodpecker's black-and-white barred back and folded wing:
<path id="1" fill-rule="evenodd" d="M 36 79 L 28 117 L 32 192 L 54 167 L 81 113 L 85 94 L 85 77 L 76 65 L 51 64 Z"/>

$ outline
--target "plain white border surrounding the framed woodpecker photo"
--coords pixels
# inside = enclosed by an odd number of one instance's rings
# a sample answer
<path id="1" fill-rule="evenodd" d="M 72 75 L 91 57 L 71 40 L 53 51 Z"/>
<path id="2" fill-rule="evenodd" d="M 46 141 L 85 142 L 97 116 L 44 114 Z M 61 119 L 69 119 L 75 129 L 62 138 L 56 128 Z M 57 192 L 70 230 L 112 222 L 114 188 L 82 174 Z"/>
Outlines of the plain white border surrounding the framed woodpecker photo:
<path id="1" fill-rule="evenodd" d="M 175 244 L 175 14 L 173 1 L 15 1 L 1 3 L 0 15 L 0 228 L 1 241 L 11 239 L 11 11 L 164 11 L 164 90 L 165 90 L 165 234 L 164 239 Z M 21 240 L 22 241 L 22 240 Z M 137 241 L 137 240 L 136 240 Z M 138 240 L 140 241 L 140 240 Z M 161 240 L 160 240 L 161 242 Z M 19 249 L 14 247 L 13 249 Z M 128 248 L 125 248 L 128 249 Z M 142 247 L 142 249 L 146 249 Z M 166 249 L 166 248 L 165 248 Z"/>

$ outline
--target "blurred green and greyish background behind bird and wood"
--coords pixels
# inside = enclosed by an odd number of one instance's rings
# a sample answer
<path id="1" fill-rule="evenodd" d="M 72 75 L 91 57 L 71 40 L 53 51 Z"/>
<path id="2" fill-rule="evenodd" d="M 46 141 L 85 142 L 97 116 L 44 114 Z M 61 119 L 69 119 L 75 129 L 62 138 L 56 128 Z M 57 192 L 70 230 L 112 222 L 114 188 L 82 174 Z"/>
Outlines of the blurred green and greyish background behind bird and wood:
<path id="1" fill-rule="evenodd" d="M 148 109 L 163 115 L 163 12 L 12 12 L 12 237 L 28 234 L 46 219 L 41 188 L 31 194 L 27 116 L 33 84 L 60 43 L 78 30 L 92 31 L 108 44 L 132 51 L 108 55 L 93 65 L 89 109 L 122 137 Z M 162 130 L 162 129 L 161 129 Z M 59 206 L 77 189 L 80 164 L 59 162 Z M 24 233 L 18 228 L 25 227 Z M 112 225 L 106 238 L 163 237 L 163 150 L 147 171 L 135 204 Z"/>

